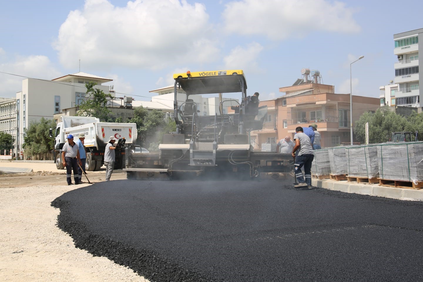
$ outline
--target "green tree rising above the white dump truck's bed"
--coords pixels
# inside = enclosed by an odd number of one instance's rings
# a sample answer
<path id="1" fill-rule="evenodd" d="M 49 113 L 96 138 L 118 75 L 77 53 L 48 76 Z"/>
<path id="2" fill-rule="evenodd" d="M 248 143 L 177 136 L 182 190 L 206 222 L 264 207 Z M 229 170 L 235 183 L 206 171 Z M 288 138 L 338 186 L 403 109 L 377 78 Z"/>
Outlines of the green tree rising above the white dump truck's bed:
<path id="1" fill-rule="evenodd" d="M 99 88 L 94 88 L 95 82 L 88 82 L 85 84 L 87 92 L 85 99 L 79 105 L 79 111 L 77 115 L 83 117 L 96 117 L 104 121 L 112 113 L 107 108 L 108 99 L 112 99 L 113 96 L 110 93 L 104 93 Z"/>

